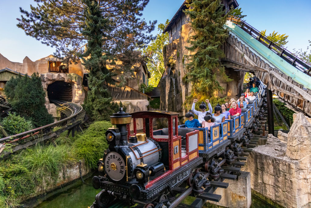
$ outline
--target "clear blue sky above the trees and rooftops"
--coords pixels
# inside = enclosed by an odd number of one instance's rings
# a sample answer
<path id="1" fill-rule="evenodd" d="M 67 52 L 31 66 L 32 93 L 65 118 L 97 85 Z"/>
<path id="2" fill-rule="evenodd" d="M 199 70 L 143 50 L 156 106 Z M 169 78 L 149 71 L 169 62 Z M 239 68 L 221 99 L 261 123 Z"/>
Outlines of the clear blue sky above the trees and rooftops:
<path id="1" fill-rule="evenodd" d="M 184 0 L 150 0 L 144 10 L 144 18 L 164 23 L 171 19 Z M 311 40 L 310 0 L 237 0 L 246 14 L 246 22 L 257 30 L 267 30 L 267 34 L 278 31 L 288 35 L 287 49 L 302 48 L 304 51 Z M 45 46 L 40 41 L 16 27 L 16 18 L 20 17 L 19 7 L 29 10 L 33 0 L 0 0 L 0 53 L 7 59 L 22 62 L 25 56 L 32 61 L 53 54 L 54 48 Z M 157 33 L 157 30 L 153 32 Z"/>

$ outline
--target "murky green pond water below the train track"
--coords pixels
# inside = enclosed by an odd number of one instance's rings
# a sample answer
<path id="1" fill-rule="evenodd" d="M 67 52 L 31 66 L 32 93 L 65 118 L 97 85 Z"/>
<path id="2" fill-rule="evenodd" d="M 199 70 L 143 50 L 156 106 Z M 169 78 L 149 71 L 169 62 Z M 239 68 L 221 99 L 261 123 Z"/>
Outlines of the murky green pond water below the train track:
<path id="1" fill-rule="evenodd" d="M 91 206 L 95 201 L 95 196 L 100 192 L 100 189 L 96 190 L 91 186 L 91 179 L 89 177 L 85 180 L 86 183 L 79 184 L 69 188 L 67 191 L 63 191 L 56 196 L 52 196 L 39 204 L 36 207 L 46 208 L 87 208 Z M 191 204 L 194 201 L 194 197 L 187 197 L 183 203 Z M 205 204 L 203 208 L 215 208 L 215 205 Z M 273 208 L 274 206 L 268 204 L 266 201 L 261 200 L 257 196 L 252 194 L 252 208 Z"/>

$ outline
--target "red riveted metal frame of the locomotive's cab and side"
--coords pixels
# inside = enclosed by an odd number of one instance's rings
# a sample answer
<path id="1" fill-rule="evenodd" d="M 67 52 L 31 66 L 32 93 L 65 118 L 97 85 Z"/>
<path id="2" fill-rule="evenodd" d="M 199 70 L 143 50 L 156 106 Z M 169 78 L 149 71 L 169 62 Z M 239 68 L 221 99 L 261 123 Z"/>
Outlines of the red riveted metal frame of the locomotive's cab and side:
<path id="1" fill-rule="evenodd" d="M 152 111 L 148 111 L 148 113 L 150 113 Z M 155 113 L 163 113 L 163 112 L 156 112 L 153 111 Z M 146 112 L 147 113 L 147 112 Z M 135 113 L 133 113 L 135 114 Z M 130 134 L 130 124 L 127 125 L 128 128 L 128 139 L 130 136 L 134 136 L 137 133 L 137 129 L 136 129 L 136 119 L 143 119 L 143 131 L 146 133 L 146 120 L 145 119 L 149 119 L 149 133 L 150 133 L 150 138 L 154 139 L 156 142 L 168 142 L 168 146 L 169 146 L 169 171 L 165 172 L 164 174 L 160 175 L 159 177 L 155 178 L 152 181 L 149 181 L 148 184 L 145 186 L 145 188 L 149 188 L 151 187 L 154 183 L 160 181 L 162 178 L 168 176 L 169 174 L 171 174 L 172 172 L 178 170 L 180 167 L 183 167 L 184 165 L 188 164 L 190 161 L 194 160 L 195 158 L 199 157 L 198 155 L 198 149 L 199 149 L 199 145 L 197 143 L 197 148 L 194 149 L 193 151 L 189 152 L 189 137 L 194 135 L 194 134 L 198 134 L 199 130 L 195 130 L 193 132 L 187 133 L 188 137 L 186 137 L 186 145 L 188 145 L 188 148 L 186 148 L 186 155 L 184 157 L 181 157 L 181 136 L 178 135 L 178 114 L 167 114 L 166 116 L 163 115 L 133 115 L 132 114 L 132 119 L 133 119 L 133 134 Z M 152 121 L 154 118 L 167 118 L 168 119 L 168 138 L 154 138 L 153 137 L 153 124 Z M 175 136 L 173 135 L 173 119 L 175 119 Z M 159 129 L 160 130 L 160 129 Z M 170 139 L 172 138 L 172 139 Z M 173 143 L 175 141 L 179 140 L 179 158 L 173 160 L 173 151 L 174 151 L 174 147 L 173 147 Z M 197 152 L 197 156 L 189 159 L 189 156 L 194 153 Z M 188 160 L 188 162 L 184 162 Z M 179 167 L 176 167 L 175 169 L 173 169 L 173 164 L 179 162 Z M 184 162 L 184 163 L 183 163 Z"/>

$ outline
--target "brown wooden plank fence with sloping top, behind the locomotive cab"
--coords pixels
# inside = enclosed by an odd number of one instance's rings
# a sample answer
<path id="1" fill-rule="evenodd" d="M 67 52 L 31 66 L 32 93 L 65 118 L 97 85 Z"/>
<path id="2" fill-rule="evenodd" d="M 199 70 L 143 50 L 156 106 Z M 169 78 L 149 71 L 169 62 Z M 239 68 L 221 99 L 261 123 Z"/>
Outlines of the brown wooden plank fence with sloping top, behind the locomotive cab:
<path id="1" fill-rule="evenodd" d="M 111 93 L 113 100 L 147 100 L 150 98 L 148 95 L 139 92 L 127 85 L 118 87 L 115 85 L 108 85 L 108 90 Z"/>

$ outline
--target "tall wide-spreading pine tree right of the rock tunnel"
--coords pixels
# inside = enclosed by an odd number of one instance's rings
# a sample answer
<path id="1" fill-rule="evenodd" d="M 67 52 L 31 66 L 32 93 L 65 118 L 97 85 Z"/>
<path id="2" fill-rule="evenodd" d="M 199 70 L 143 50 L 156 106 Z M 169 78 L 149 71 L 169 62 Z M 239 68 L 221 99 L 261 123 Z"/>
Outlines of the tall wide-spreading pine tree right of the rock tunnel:
<path id="1" fill-rule="evenodd" d="M 154 22 L 140 19 L 149 0 L 35 0 L 23 14 L 18 27 L 42 43 L 56 47 L 59 58 L 83 58 L 89 71 L 85 109 L 93 119 L 109 118 L 111 96 L 107 85 L 119 77 L 120 85 L 132 77 L 133 66 L 144 61 L 134 52 L 153 39 L 148 35 Z M 25 16 L 24 16 L 25 15 Z"/>

